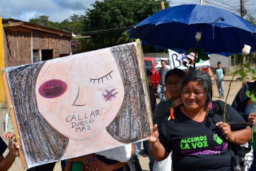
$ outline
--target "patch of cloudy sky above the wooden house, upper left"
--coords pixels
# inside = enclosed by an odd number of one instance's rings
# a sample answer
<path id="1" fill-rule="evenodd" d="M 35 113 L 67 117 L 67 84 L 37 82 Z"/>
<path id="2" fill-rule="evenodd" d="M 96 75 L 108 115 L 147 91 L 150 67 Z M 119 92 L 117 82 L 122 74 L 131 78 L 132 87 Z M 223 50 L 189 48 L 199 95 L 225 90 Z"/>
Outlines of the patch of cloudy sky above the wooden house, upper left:
<path id="1" fill-rule="evenodd" d="M 73 14 L 85 15 L 90 4 L 94 3 L 95 0 L 8 0 L 1 1 L 0 15 L 25 22 L 46 15 L 51 22 L 62 22 Z"/>

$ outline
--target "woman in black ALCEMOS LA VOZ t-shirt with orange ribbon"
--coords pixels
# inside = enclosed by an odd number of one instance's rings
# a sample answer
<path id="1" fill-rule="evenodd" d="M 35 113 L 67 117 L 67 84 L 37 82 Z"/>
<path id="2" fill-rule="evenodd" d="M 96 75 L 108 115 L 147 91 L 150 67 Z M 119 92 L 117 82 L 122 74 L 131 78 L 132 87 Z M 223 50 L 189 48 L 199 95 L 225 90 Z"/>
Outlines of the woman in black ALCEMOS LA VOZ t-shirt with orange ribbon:
<path id="1" fill-rule="evenodd" d="M 241 145 L 250 140 L 252 132 L 249 126 L 232 131 L 223 122 L 223 113 L 210 110 L 211 97 L 207 73 L 195 70 L 182 79 L 182 104 L 171 109 L 169 116 L 164 114 L 153 127 L 150 152 L 156 161 L 162 161 L 173 151 L 174 171 L 232 170 L 234 153 L 229 142 Z M 245 122 L 231 106 L 226 108 L 226 121 Z"/>

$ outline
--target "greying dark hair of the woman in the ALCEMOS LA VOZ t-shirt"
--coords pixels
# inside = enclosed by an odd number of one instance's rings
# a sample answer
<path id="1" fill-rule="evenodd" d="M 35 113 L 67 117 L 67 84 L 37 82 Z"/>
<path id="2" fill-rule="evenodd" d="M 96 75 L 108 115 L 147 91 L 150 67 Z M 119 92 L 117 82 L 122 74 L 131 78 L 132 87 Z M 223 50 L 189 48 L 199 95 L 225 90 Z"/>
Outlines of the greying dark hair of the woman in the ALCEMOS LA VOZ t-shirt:
<path id="1" fill-rule="evenodd" d="M 207 101 L 205 103 L 205 107 L 207 108 L 213 97 L 211 78 L 209 74 L 200 70 L 190 71 L 181 81 L 181 92 L 184 89 L 185 85 L 187 85 L 191 81 L 198 81 L 202 84 L 203 90 L 205 90 L 205 92 L 207 93 Z"/>

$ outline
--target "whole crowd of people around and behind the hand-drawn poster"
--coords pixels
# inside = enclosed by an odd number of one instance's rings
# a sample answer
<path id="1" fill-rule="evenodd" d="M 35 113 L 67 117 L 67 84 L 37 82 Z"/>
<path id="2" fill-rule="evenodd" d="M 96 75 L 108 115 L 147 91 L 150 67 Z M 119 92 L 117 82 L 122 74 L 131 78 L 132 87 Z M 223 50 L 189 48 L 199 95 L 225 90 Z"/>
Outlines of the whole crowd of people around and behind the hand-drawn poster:
<path id="1" fill-rule="evenodd" d="M 220 98 L 223 98 L 225 73 L 221 62 L 213 74 L 200 70 L 187 73 L 177 68 L 168 70 L 165 63 L 161 62 L 158 104 L 150 82 L 152 73 L 147 70 L 153 129 L 150 139 L 143 144 L 150 170 L 236 170 L 232 146 L 244 145 L 256 136 L 254 130 L 252 136 L 252 127 L 256 124 L 255 104 L 246 95 L 248 91 L 256 91 L 256 82 L 244 84 L 233 103 L 225 105 L 221 100 L 213 101 L 211 82 L 214 76 Z M 231 124 L 233 122 L 242 126 L 237 128 Z M 20 144 L 13 133 L 5 133 L 2 138 L 9 140 L 9 153 L 3 156 L 7 145 L 0 139 L 0 170 L 8 170 L 19 156 Z M 254 155 L 255 142 L 252 142 Z M 138 142 L 69 159 L 62 162 L 63 170 L 132 170 L 129 162 L 134 168 L 136 165 L 135 170 L 142 170 L 138 159 L 140 147 L 141 142 Z M 255 169 L 256 159 L 247 167 L 247 170 Z"/>

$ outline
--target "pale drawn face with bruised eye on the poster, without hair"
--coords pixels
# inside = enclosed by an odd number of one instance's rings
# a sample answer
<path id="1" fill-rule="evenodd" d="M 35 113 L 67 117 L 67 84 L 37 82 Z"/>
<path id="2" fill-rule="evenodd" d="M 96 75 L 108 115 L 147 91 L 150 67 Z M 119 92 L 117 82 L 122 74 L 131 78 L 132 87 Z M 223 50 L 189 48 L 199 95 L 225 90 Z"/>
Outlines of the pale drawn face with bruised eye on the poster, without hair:
<path id="1" fill-rule="evenodd" d="M 104 50 L 51 60 L 38 74 L 38 110 L 66 137 L 92 138 L 113 121 L 122 105 L 122 78 L 111 52 Z"/>

